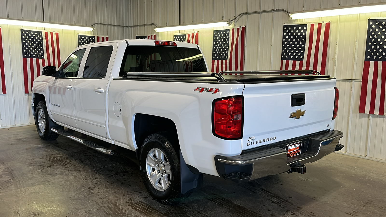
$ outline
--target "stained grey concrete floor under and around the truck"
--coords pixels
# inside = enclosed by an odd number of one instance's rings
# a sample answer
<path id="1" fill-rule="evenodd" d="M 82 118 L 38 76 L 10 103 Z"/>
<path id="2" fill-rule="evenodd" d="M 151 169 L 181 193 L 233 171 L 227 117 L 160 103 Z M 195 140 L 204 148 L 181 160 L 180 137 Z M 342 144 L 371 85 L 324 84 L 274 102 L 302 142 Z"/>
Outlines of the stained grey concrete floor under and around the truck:
<path id="1" fill-rule="evenodd" d="M 35 126 L 0 129 L 0 217 L 386 216 L 385 163 L 330 154 L 307 173 L 245 184 L 204 176 L 179 205 L 152 200 L 131 155 L 98 153 Z"/>

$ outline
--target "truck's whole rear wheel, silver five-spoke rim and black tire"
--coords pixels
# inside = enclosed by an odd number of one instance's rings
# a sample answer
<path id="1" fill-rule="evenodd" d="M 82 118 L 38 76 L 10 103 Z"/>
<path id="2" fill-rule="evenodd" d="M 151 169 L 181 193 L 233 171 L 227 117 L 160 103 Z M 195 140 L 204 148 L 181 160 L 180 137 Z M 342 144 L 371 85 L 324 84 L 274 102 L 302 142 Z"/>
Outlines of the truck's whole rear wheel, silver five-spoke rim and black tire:
<path id="1" fill-rule="evenodd" d="M 145 139 L 140 165 L 147 191 L 158 202 L 170 205 L 189 195 L 181 194 L 178 154 L 165 136 L 151 134 Z"/>

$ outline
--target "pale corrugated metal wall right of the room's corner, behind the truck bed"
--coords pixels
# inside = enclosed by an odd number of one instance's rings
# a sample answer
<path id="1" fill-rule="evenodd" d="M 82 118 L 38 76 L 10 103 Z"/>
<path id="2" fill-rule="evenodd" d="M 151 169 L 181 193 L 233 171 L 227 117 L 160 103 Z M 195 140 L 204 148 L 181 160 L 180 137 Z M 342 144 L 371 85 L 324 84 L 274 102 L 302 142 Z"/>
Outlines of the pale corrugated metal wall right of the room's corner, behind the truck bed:
<path id="1" fill-rule="evenodd" d="M 131 0 L 131 25 L 155 23 L 158 26 L 191 24 L 233 19 L 241 12 L 283 8 L 290 12 L 380 2 L 379 0 Z M 382 1 L 381 1 L 382 2 Z M 180 5 L 179 5 L 180 3 Z M 180 7 L 180 19 L 178 19 Z M 364 44 L 368 17 L 386 17 L 386 13 L 344 15 L 296 20 L 331 20 L 328 75 L 339 79 L 339 113 L 335 129 L 343 131 L 345 153 L 386 160 L 386 116 L 359 114 L 359 95 L 364 62 Z M 235 25 L 246 26 L 245 70 L 279 70 L 284 12 L 245 15 Z M 133 27 L 136 34 L 150 34 L 154 27 Z M 181 32 L 188 32 L 186 30 Z M 211 64 L 213 29 L 199 31 L 199 45 Z M 159 32 L 158 39 L 173 40 L 175 32 Z"/>

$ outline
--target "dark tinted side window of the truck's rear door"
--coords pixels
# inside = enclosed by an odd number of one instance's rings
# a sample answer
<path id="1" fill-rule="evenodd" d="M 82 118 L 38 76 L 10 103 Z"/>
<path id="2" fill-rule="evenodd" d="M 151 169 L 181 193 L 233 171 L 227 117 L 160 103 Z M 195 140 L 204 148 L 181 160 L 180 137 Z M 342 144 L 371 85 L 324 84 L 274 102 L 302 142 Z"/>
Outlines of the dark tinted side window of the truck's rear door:
<path id="1" fill-rule="evenodd" d="M 83 78 L 104 78 L 112 52 L 113 46 L 91 47 Z"/>

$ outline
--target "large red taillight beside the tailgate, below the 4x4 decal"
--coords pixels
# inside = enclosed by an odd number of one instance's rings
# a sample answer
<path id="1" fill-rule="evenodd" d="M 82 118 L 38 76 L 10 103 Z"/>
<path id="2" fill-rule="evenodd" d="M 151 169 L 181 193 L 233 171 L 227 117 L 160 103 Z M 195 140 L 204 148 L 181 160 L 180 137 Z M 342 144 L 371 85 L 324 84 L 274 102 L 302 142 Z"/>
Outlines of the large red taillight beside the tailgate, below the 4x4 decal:
<path id="1" fill-rule="evenodd" d="M 216 101 L 213 122 L 216 135 L 228 139 L 241 137 L 242 98 L 232 97 Z"/>

